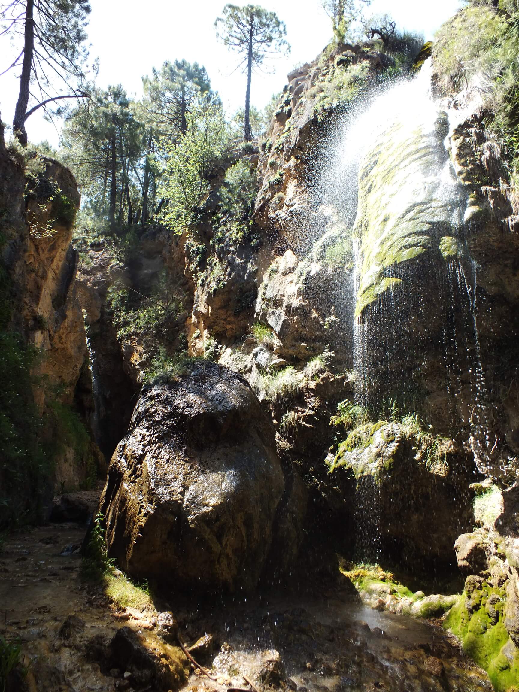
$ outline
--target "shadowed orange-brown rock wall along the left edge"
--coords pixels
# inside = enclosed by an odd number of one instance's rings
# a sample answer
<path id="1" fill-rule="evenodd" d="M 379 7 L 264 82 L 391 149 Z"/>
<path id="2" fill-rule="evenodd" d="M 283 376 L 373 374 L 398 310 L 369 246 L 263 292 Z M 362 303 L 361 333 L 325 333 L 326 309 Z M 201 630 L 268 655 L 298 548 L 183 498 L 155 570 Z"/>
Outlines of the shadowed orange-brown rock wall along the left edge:
<path id="1" fill-rule="evenodd" d="M 84 425 L 93 402 L 71 245 L 78 187 L 57 161 L 6 148 L 3 131 L 0 140 L 4 524 L 48 516 L 53 493 L 94 480 L 100 459 Z"/>

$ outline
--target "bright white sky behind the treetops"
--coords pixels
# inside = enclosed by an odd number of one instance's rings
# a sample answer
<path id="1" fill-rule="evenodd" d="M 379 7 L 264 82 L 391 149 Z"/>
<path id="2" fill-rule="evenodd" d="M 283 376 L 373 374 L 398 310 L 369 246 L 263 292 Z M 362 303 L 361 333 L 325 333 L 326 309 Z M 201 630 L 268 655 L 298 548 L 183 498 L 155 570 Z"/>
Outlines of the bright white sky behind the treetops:
<path id="1" fill-rule="evenodd" d="M 268 61 L 268 73 L 253 75 L 251 101 L 262 109 L 273 93 L 282 90 L 295 64 L 310 62 L 322 51 L 331 37 L 331 23 L 320 0 L 254 1 L 277 12 L 292 48 L 288 56 Z M 184 58 L 206 67 L 213 89 L 219 91 L 228 113 L 233 113 L 244 104 L 246 76 L 235 71 L 236 55 L 216 39 L 214 23 L 224 4 L 225 0 L 91 0 L 89 41 L 91 57 L 100 60 L 98 85 L 120 83 L 130 95 L 139 96 L 141 77 L 150 74 L 153 66 Z M 368 11 L 370 15 L 388 12 L 399 28 L 431 39 L 459 5 L 460 0 L 373 0 Z M 6 39 L 2 41 L 0 72 L 15 57 Z M 0 111 L 8 123 L 15 111 L 17 74 L 10 71 L 0 77 Z M 59 143 L 55 127 L 40 112 L 28 119 L 26 127 L 33 142 Z"/>

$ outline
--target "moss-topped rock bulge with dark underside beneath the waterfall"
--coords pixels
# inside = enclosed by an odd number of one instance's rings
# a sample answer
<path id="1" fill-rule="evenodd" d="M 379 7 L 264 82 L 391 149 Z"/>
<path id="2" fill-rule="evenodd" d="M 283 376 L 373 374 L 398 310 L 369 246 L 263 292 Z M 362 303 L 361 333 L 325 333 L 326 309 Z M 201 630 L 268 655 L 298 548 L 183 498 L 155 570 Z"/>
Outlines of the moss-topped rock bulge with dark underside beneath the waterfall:
<path id="1" fill-rule="evenodd" d="M 471 527 L 471 458 L 446 442 L 441 462 L 427 461 L 415 434 L 401 424 L 358 430 L 363 440 L 348 438 L 334 462 L 335 473 L 344 473 L 342 466 L 356 477 L 358 543 L 372 561 L 452 570 L 453 543 Z"/>

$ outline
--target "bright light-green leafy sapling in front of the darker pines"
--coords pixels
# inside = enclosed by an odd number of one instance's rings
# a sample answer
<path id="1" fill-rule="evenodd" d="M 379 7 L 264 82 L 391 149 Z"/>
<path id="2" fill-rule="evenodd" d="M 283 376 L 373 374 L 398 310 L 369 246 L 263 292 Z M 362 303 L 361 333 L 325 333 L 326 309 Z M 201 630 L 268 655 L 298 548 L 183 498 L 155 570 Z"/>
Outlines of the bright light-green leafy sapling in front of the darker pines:
<path id="1" fill-rule="evenodd" d="M 162 214 L 174 233 L 183 233 L 201 212 L 210 192 L 209 176 L 224 153 L 226 127 L 219 102 L 201 100 L 188 116 L 188 129 L 176 145 L 163 141 L 167 154 L 160 194 L 168 200 Z"/>

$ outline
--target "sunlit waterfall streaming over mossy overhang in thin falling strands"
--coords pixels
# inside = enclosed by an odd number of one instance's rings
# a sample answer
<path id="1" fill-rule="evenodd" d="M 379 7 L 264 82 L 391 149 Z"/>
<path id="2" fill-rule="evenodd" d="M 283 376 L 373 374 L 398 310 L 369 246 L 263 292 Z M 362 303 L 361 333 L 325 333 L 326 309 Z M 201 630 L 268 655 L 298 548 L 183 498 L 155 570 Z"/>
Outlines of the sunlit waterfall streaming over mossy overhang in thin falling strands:
<path id="1" fill-rule="evenodd" d="M 468 194 L 448 151 L 464 113 L 432 98 L 431 71 L 428 61 L 345 116 L 322 199 L 351 239 L 356 403 L 383 417 L 397 401 L 401 412 L 439 422 L 441 434 L 466 430 L 478 470 L 488 471 L 477 264 L 466 240 Z M 433 381 L 446 396 L 430 390 Z M 361 482 L 357 493 L 358 543 L 372 561 L 380 556 L 374 485 Z"/>

